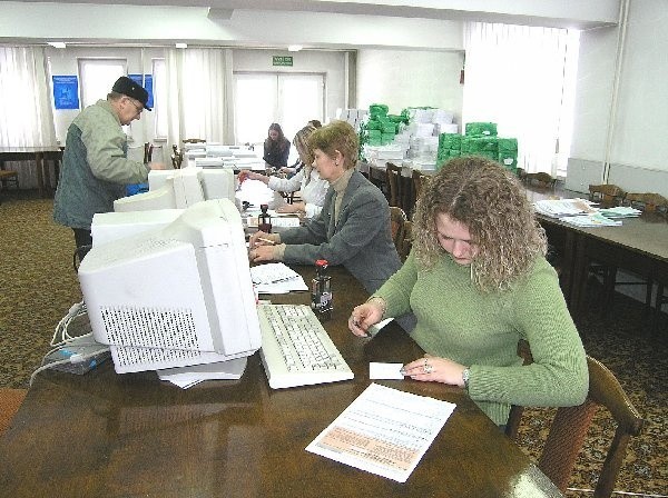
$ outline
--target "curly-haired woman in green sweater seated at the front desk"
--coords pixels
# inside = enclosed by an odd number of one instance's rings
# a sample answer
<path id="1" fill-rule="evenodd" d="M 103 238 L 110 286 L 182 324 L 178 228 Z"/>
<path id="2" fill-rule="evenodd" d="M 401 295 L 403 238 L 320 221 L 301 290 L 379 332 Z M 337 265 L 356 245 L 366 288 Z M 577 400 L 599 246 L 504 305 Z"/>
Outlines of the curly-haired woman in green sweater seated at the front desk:
<path id="1" fill-rule="evenodd" d="M 544 232 L 508 171 L 478 157 L 450 161 L 424 187 L 413 233 L 401 270 L 353 309 L 353 333 L 412 310 L 411 337 L 426 355 L 402 372 L 466 388 L 499 426 L 510 405 L 584 401 L 584 349 L 544 258 Z M 522 366 L 520 339 L 532 365 Z"/>

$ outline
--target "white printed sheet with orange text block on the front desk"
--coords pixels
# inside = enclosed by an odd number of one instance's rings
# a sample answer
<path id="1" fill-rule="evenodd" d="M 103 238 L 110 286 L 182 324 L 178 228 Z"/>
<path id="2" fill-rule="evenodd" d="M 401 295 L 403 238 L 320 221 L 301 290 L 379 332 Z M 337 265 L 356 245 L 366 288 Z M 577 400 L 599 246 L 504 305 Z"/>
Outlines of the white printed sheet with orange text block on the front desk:
<path id="1" fill-rule="evenodd" d="M 454 408 L 372 384 L 306 450 L 405 482 Z"/>

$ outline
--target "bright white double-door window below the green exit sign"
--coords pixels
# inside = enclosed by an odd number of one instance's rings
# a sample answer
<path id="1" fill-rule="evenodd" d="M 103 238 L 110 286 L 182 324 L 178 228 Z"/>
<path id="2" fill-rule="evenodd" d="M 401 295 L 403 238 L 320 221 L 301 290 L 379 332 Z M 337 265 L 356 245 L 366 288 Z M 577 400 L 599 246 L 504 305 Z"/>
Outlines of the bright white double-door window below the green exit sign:
<path id="1" fill-rule="evenodd" d="M 324 74 L 236 73 L 237 142 L 263 142 L 272 122 L 279 123 L 285 137 L 292 140 L 310 120 L 322 121 L 324 87 Z"/>

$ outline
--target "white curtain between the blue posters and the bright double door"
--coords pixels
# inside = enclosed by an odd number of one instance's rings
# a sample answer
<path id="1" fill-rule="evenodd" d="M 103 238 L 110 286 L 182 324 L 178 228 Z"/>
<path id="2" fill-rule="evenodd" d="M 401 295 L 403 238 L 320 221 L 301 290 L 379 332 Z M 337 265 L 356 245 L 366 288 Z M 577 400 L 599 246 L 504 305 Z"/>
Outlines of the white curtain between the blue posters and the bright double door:
<path id="1" fill-rule="evenodd" d="M 230 49 L 170 49 L 166 57 L 169 147 L 188 138 L 234 143 Z"/>

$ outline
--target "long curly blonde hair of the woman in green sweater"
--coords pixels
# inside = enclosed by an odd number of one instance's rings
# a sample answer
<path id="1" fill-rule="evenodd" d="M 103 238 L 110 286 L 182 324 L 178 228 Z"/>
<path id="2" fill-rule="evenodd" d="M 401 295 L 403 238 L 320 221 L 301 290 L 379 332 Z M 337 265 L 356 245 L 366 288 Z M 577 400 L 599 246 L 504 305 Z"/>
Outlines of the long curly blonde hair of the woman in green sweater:
<path id="1" fill-rule="evenodd" d="M 452 159 L 422 189 L 413 217 L 415 256 L 425 268 L 445 253 L 436 217 L 468 227 L 478 247 L 472 279 L 483 291 L 504 290 L 544 256 L 544 230 L 519 181 L 499 163 L 481 157 Z"/>

